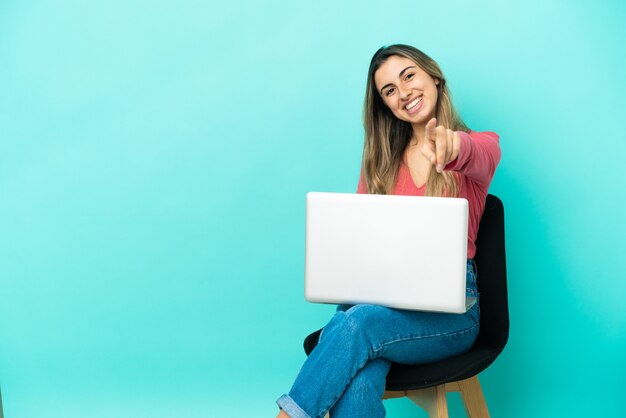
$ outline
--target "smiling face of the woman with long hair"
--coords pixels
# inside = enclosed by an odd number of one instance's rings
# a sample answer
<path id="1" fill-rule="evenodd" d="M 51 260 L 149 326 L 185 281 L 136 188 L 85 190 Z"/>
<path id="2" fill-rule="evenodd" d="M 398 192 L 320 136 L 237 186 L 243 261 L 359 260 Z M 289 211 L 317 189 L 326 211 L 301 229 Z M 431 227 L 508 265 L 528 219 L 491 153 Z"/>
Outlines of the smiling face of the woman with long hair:
<path id="1" fill-rule="evenodd" d="M 408 58 L 391 56 L 374 74 L 383 102 L 400 120 L 425 125 L 437 109 L 438 79 Z"/>

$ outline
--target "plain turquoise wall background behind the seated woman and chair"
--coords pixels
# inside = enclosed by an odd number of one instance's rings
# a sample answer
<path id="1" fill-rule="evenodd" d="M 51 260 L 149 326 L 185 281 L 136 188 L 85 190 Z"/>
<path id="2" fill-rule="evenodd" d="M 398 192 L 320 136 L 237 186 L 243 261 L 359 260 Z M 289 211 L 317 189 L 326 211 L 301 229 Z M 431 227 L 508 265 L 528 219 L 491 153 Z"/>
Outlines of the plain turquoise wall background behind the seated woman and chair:
<path id="1" fill-rule="evenodd" d="M 492 416 L 616 416 L 624 21 L 621 1 L 3 0 L 5 414 L 273 416 L 333 309 L 302 296 L 305 194 L 355 190 L 367 66 L 403 42 L 501 136 Z"/>

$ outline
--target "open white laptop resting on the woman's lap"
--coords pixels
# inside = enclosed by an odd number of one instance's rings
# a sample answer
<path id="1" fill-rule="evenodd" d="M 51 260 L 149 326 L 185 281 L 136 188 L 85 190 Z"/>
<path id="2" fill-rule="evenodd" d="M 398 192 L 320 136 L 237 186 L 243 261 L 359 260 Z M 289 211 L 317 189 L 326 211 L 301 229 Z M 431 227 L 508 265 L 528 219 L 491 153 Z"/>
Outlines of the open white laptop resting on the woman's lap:
<path id="1" fill-rule="evenodd" d="M 466 199 L 307 194 L 305 299 L 466 312 Z"/>

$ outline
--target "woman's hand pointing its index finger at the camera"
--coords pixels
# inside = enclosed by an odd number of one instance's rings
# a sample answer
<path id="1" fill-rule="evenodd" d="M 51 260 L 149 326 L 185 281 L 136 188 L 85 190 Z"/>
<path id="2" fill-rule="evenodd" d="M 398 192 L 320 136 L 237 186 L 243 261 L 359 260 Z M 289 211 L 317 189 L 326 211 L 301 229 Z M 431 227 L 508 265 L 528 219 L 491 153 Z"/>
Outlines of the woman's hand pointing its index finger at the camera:
<path id="1" fill-rule="evenodd" d="M 422 154 L 435 166 L 438 173 L 459 155 L 461 137 L 452 129 L 437 126 L 436 118 L 432 118 L 426 124 L 424 139 Z"/>

